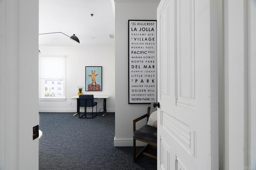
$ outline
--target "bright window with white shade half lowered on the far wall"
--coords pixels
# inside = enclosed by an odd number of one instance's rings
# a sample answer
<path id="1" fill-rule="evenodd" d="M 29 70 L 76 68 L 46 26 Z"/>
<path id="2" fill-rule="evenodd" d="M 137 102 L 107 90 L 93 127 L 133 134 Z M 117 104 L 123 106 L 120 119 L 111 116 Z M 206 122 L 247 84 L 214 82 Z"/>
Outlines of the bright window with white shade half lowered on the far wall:
<path id="1" fill-rule="evenodd" d="M 39 57 L 40 100 L 66 100 L 66 57 Z"/>

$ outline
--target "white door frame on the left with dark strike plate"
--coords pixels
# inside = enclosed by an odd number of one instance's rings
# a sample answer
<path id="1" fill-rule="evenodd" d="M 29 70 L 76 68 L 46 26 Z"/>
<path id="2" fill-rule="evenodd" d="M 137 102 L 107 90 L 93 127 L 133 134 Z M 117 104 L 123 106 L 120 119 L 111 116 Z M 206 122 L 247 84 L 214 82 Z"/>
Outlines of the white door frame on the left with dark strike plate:
<path id="1" fill-rule="evenodd" d="M 38 169 L 38 0 L 0 1 L 0 169 Z"/>

